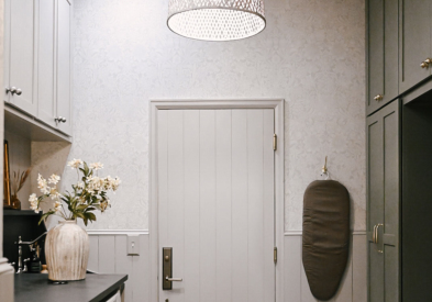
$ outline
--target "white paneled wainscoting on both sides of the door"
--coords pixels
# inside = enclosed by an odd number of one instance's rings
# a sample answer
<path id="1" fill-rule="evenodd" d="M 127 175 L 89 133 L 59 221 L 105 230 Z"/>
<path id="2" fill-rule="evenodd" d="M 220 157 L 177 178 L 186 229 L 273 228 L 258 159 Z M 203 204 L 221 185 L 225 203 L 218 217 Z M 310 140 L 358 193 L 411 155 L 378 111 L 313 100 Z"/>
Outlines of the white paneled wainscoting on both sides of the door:
<path id="1" fill-rule="evenodd" d="M 149 237 L 140 234 L 140 256 L 128 256 L 128 235 L 90 232 L 90 270 L 128 273 L 126 302 L 149 301 Z M 135 235 L 135 234 L 134 234 Z M 285 302 L 317 302 L 310 292 L 301 260 L 301 231 L 285 234 Z M 332 302 L 367 301 L 365 232 L 354 232 L 348 267 Z"/>

